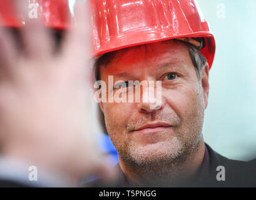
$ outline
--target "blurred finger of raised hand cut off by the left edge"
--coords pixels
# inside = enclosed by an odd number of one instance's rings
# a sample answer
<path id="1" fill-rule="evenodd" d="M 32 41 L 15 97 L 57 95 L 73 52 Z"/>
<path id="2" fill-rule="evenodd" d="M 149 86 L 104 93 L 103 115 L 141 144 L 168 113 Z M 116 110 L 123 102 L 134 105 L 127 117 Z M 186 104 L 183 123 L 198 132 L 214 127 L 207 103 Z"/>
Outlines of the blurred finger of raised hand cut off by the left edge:
<path id="1" fill-rule="evenodd" d="M 1 22 L 0 22 L 1 24 Z M 13 68 L 18 52 L 16 51 L 14 37 L 6 27 L 0 27 L 0 71 L 6 76 Z"/>

